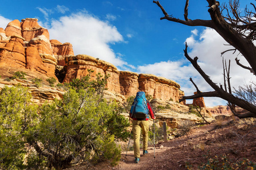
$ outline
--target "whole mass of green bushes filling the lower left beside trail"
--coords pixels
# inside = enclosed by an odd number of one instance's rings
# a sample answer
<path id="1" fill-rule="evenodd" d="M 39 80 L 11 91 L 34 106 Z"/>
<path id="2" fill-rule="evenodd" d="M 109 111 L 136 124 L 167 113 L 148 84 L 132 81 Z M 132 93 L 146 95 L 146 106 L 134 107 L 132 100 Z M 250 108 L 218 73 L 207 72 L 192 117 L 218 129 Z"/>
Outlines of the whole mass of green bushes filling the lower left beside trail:
<path id="1" fill-rule="evenodd" d="M 3 88 L 0 169 L 63 169 L 106 159 L 117 164 L 121 148 L 115 139 L 126 140 L 130 124 L 119 105 L 97 91 L 105 84 L 102 81 L 88 79 L 86 88 L 70 87 L 63 99 L 40 108 L 30 104 L 26 88 Z"/>

